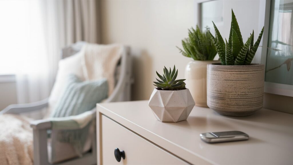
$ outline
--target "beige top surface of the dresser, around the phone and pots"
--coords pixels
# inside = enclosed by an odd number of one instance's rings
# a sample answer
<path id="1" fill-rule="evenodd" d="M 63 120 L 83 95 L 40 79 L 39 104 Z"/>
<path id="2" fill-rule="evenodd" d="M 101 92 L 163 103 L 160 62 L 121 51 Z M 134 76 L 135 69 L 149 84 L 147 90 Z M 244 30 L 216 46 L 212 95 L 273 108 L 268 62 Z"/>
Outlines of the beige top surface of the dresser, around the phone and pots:
<path id="1" fill-rule="evenodd" d="M 293 115 L 262 109 L 247 117 L 218 115 L 195 106 L 186 121 L 158 121 L 148 101 L 97 104 L 97 110 L 162 148 L 195 164 L 292 164 Z M 242 131 L 249 140 L 208 144 L 204 132 Z"/>

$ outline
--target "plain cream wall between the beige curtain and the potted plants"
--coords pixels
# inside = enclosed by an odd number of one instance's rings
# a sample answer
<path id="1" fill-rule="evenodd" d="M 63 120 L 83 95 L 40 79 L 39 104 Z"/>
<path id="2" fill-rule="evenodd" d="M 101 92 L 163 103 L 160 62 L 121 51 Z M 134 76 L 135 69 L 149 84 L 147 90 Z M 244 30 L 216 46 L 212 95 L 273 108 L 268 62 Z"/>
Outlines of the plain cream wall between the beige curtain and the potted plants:
<path id="1" fill-rule="evenodd" d="M 102 0 L 102 43 L 131 46 L 134 55 L 133 100 L 149 99 L 154 89 L 156 70 L 178 68 L 184 78 L 190 61 L 176 46 L 187 37 L 187 29 L 195 25 L 194 0 Z"/>

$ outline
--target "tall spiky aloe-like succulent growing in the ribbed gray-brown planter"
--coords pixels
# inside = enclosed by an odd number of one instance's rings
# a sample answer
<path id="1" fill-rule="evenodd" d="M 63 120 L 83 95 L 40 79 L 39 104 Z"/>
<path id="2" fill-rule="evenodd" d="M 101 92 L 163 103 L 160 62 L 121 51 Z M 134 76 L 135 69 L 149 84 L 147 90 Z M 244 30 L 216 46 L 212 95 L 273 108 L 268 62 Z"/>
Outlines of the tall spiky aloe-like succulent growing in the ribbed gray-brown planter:
<path id="1" fill-rule="evenodd" d="M 214 22 L 213 22 L 214 24 Z M 243 43 L 242 35 L 239 29 L 238 22 L 232 9 L 232 21 L 228 42 L 223 40 L 217 26 L 214 24 L 215 36 L 212 36 L 214 45 L 216 46 L 219 58 L 222 65 L 250 65 L 251 61 L 258 49 L 261 37 L 263 36 L 263 29 L 261 30 L 257 41 L 253 44 L 254 31 L 246 41 Z"/>

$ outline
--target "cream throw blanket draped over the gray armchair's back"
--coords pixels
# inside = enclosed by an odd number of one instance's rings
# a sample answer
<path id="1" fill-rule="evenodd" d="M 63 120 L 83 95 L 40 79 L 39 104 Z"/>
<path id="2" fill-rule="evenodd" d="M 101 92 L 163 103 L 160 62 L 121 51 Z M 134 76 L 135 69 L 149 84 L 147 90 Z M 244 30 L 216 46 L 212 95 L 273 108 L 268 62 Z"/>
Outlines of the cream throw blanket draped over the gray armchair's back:
<path id="1" fill-rule="evenodd" d="M 82 69 L 86 80 L 107 78 L 110 96 L 115 87 L 115 68 L 121 57 L 123 46 L 118 44 L 98 45 L 88 43 L 82 48 Z"/>

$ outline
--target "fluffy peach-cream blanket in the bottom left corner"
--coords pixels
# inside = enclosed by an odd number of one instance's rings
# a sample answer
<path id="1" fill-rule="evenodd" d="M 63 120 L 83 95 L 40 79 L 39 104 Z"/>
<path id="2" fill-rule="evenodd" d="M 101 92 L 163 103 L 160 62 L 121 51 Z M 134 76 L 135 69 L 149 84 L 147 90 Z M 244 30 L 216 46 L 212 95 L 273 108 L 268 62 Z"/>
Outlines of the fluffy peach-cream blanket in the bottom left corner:
<path id="1" fill-rule="evenodd" d="M 33 164 L 33 130 L 30 119 L 0 115 L 0 164 Z"/>

